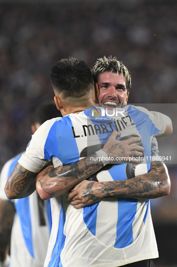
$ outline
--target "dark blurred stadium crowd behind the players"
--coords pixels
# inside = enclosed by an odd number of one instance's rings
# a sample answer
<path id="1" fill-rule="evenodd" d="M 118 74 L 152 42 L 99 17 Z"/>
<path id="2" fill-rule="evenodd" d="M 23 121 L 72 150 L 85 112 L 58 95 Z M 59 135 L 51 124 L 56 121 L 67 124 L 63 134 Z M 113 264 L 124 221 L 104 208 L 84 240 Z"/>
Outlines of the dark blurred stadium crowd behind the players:
<path id="1" fill-rule="evenodd" d="M 92 68 L 103 55 L 128 67 L 129 103 L 176 103 L 177 1 L 0 0 L 0 169 L 31 139 L 33 110 L 53 99 L 52 65 L 72 56 Z M 177 167 L 168 167 L 171 193 L 152 200 L 156 267 L 177 266 Z"/>

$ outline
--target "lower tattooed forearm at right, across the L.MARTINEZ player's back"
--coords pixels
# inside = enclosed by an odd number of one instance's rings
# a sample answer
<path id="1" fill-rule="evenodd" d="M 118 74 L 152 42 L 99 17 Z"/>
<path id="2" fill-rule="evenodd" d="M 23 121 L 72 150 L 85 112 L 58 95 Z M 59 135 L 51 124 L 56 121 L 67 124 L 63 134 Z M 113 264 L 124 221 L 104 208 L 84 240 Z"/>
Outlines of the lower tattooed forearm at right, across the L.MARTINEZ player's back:
<path id="1" fill-rule="evenodd" d="M 162 162 L 152 162 L 149 173 L 128 180 L 100 182 L 96 191 L 102 196 L 134 199 L 157 198 L 170 193 L 170 178 Z"/>

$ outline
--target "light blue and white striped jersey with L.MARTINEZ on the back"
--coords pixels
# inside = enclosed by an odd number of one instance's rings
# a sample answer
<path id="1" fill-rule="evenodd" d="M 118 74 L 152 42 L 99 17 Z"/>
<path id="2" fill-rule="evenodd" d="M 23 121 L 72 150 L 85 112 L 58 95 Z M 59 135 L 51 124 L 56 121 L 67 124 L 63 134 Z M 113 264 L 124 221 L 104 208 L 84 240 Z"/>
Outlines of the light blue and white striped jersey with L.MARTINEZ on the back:
<path id="1" fill-rule="evenodd" d="M 97 146 L 105 143 L 113 130 L 118 130 L 121 136 L 117 139 L 131 134 L 140 136 L 145 156 L 141 165 L 145 166 L 145 172 L 149 171 L 153 135 L 161 135 L 166 128 L 163 115 L 126 106 L 125 117 L 119 122 L 112 121 L 110 127 L 103 120 L 95 123 L 89 120 L 90 114 L 86 110 L 44 123 L 33 135 L 19 163 L 33 172 L 50 160 L 54 167 L 74 163 L 83 156 L 87 135 L 92 135 Z M 125 165 L 100 171 L 98 181 L 127 179 Z M 67 195 L 51 199 L 52 231 L 45 267 L 117 267 L 158 257 L 149 200 L 106 197 L 75 210 Z"/>

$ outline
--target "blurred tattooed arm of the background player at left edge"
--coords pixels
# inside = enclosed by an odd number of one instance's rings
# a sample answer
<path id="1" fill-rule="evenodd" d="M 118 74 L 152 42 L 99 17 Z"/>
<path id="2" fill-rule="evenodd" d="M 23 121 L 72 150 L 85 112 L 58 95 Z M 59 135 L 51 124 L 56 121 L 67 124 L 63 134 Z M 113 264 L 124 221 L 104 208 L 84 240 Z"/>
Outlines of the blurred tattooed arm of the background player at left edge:
<path id="1" fill-rule="evenodd" d="M 12 220 L 15 213 L 13 203 L 0 199 L 0 261 L 7 257 L 7 247 L 10 240 Z"/>

